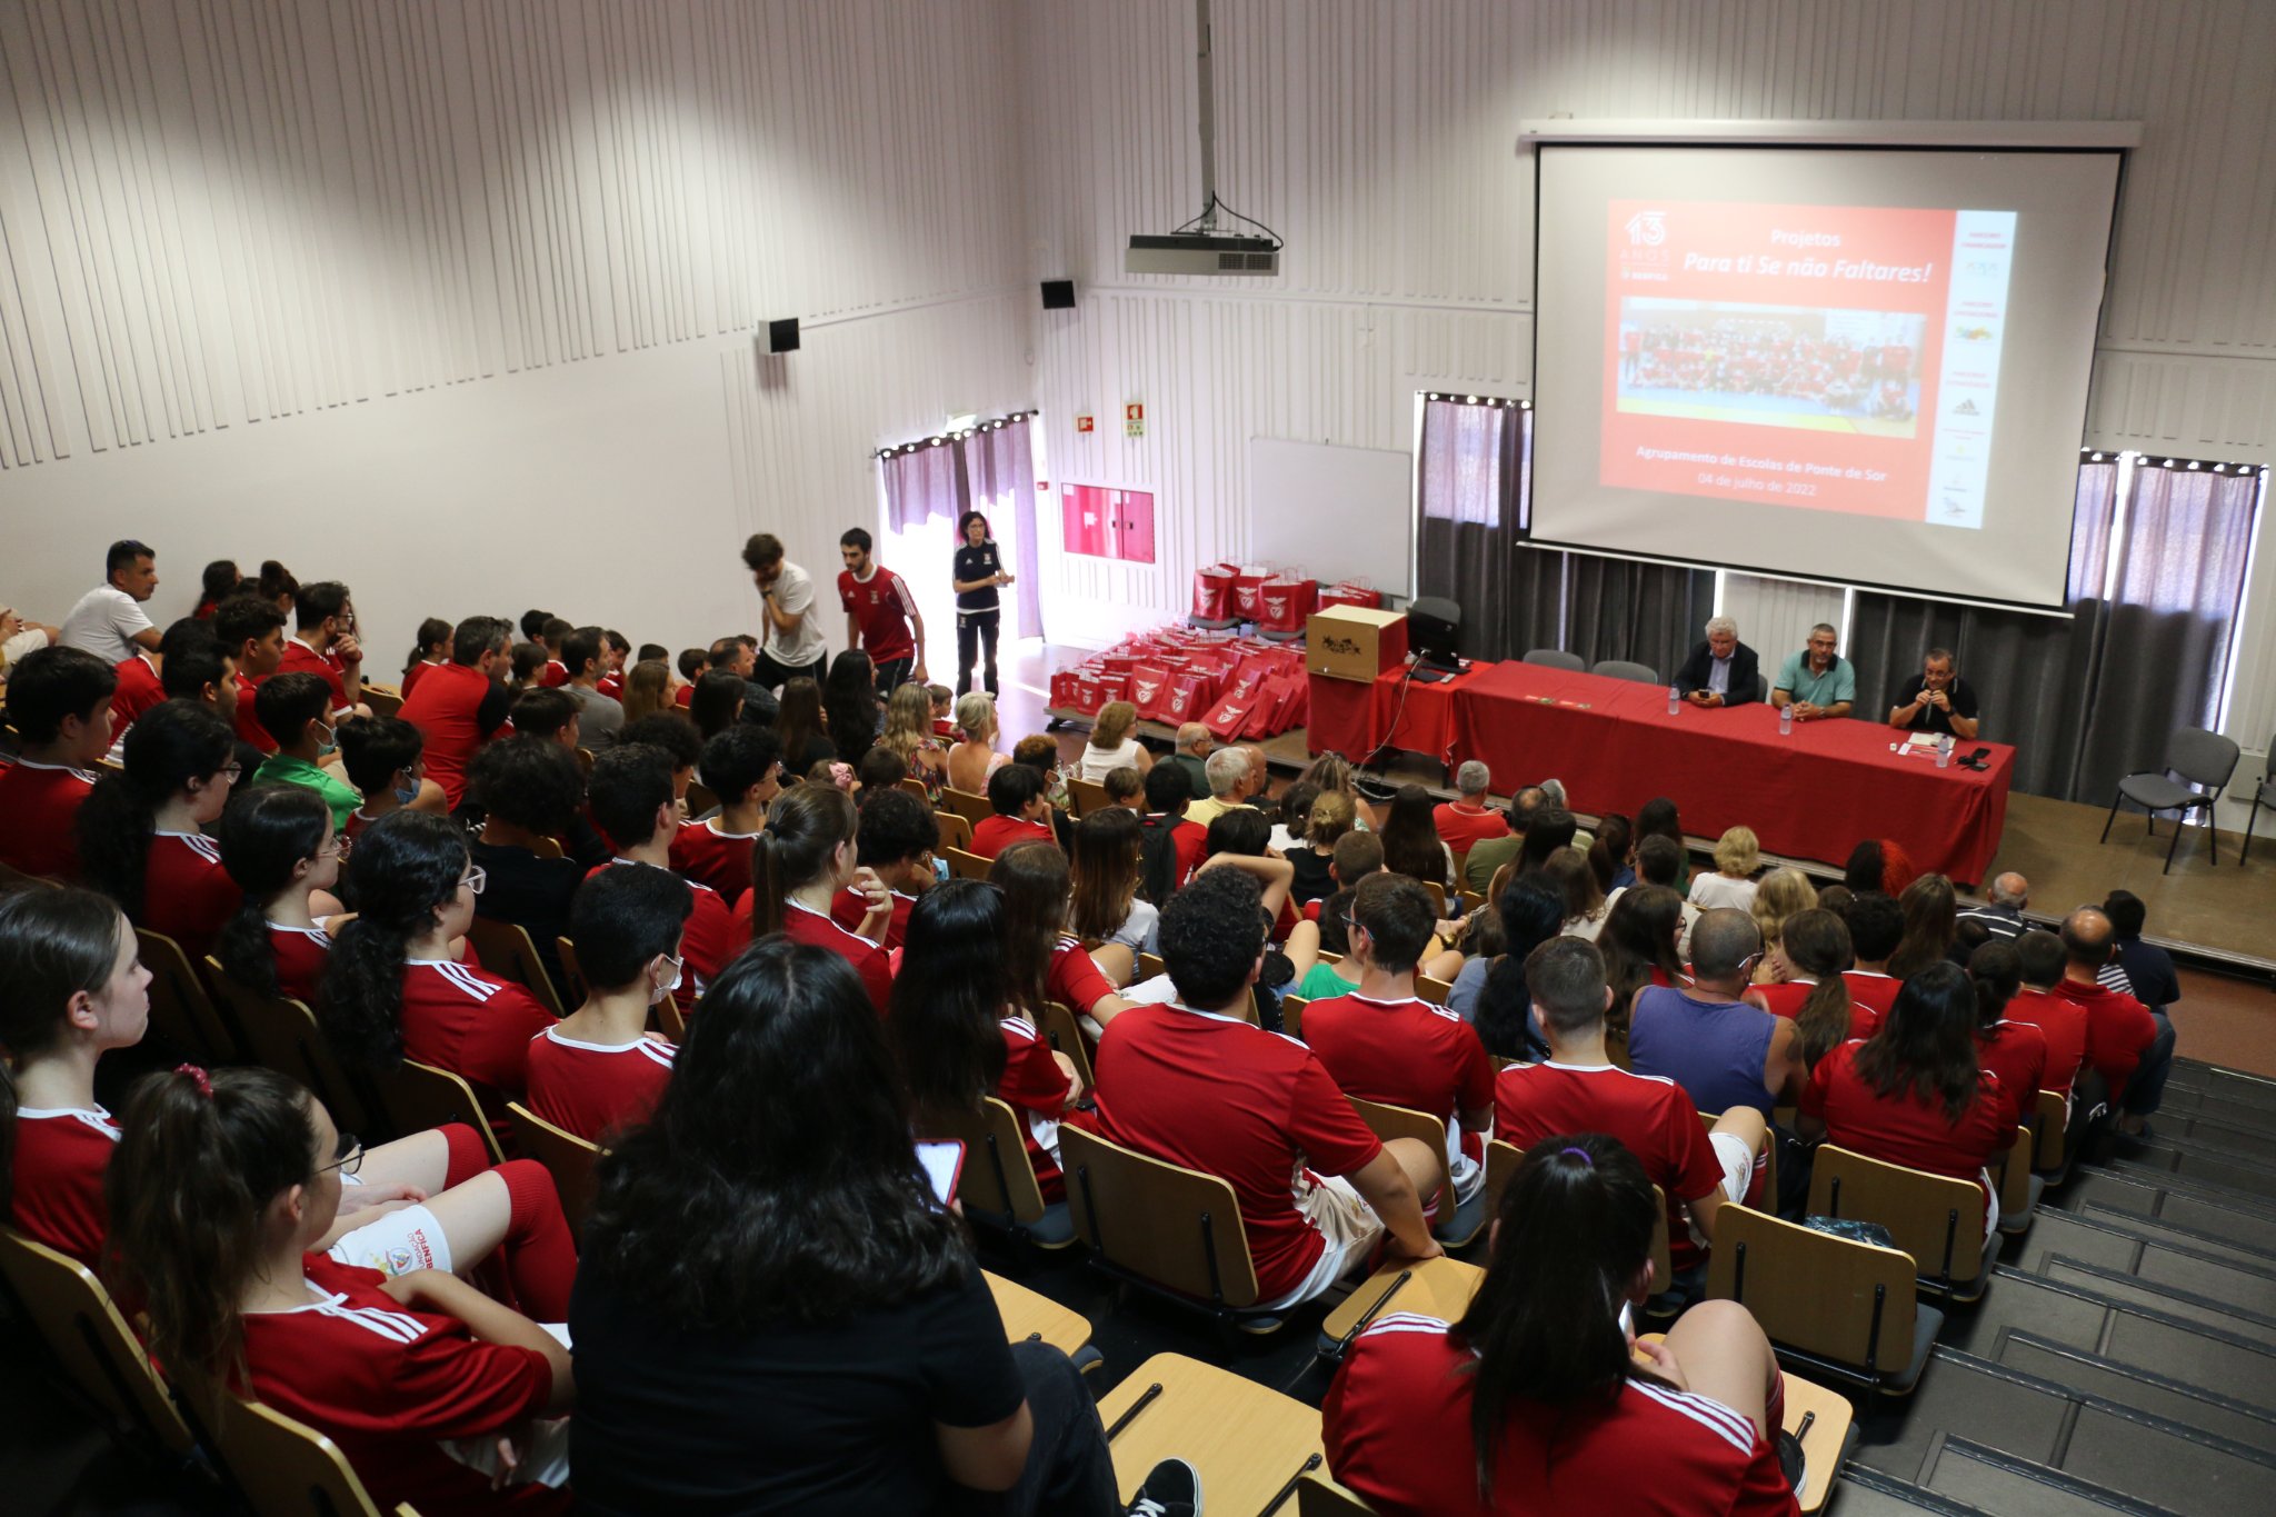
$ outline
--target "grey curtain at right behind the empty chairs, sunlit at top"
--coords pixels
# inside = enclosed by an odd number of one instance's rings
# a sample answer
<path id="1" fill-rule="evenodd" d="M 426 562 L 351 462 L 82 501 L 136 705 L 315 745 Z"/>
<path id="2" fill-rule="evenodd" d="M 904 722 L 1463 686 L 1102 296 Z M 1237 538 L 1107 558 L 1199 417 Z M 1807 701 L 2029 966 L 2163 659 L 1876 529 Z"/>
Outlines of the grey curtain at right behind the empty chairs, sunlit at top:
<path id="1" fill-rule="evenodd" d="M 2174 728 L 2212 726 L 2258 484 L 2139 466 L 2124 514 L 2117 484 L 2117 464 L 2080 464 L 2069 621 L 1859 594 L 1857 714 L 1885 714 L 1921 657 L 1951 648 L 1982 735 L 2017 746 L 2014 787 L 2087 803 L 2158 769 Z"/>

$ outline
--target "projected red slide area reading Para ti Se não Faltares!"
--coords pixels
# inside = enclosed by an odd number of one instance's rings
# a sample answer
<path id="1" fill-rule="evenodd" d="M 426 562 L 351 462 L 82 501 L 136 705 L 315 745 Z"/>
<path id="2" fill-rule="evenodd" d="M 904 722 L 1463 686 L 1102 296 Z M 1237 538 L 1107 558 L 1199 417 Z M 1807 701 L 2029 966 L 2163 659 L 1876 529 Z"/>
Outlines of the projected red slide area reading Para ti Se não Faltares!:
<path id="1" fill-rule="evenodd" d="M 1602 482 L 1928 519 L 1960 216 L 1614 200 Z"/>

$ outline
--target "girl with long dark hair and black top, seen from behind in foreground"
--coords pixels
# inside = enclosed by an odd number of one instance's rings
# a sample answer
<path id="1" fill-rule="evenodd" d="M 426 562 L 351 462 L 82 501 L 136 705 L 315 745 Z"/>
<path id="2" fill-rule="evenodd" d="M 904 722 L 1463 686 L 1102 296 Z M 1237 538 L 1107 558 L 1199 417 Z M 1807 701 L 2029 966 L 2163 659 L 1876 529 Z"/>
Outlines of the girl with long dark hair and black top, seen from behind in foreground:
<path id="1" fill-rule="evenodd" d="M 774 937 L 719 976 L 655 1117 L 601 1155 L 569 1315 L 580 1510 L 1115 1508 L 1081 1376 L 1004 1342 L 908 1135 L 840 955 Z"/>

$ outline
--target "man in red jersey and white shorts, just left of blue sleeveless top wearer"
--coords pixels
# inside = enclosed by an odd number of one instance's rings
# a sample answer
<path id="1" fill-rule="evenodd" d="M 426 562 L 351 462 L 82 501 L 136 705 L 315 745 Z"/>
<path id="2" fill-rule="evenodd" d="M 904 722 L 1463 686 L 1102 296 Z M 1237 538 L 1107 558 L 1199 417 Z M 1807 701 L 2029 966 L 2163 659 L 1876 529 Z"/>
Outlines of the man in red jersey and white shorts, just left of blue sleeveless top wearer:
<path id="1" fill-rule="evenodd" d="M 1734 1105 L 1709 1133 L 1682 1085 L 1664 1076 L 1630 1073 L 1605 1051 L 1605 1012 L 1611 989 L 1605 958 L 1580 937 L 1552 937 L 1525 960 L 1525 989 L 1550 1042 L 1541 1064 L 1511 1064 L 1493 1083 L 1493 1135 L 1529 1149 L 1559 1133 L 1609 1133 L 1636 1155 L 1643 1174 L 1668 1199 L 1668 1262 L 1677 1276 L 1698 1274 L 1725 1201 L 1743 1201 L 1755 1185 L 1757 1153 L 1768 1124 L 1750 1105 Z M 1311 1017 L 1304 1017 L 1311 1030 Z M 1657 1280 L 1652 1290 L 1673 1290 Z"/>

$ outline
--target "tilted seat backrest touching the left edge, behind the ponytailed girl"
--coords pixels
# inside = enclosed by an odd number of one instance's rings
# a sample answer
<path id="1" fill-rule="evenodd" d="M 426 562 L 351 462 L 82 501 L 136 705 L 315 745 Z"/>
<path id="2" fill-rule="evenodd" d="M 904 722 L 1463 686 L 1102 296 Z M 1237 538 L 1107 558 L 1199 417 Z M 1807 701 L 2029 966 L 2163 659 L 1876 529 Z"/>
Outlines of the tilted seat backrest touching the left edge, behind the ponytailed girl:
<path id="1" fill-rule="evenodd" d="M 0 1276 L 48 1342 L 64 1376 L 100 1406 L 118 1431 L 191 1449 L 189 1426 L 150 1367 L 102 1280 L 75 1258 L 0 1228 Z"/>

